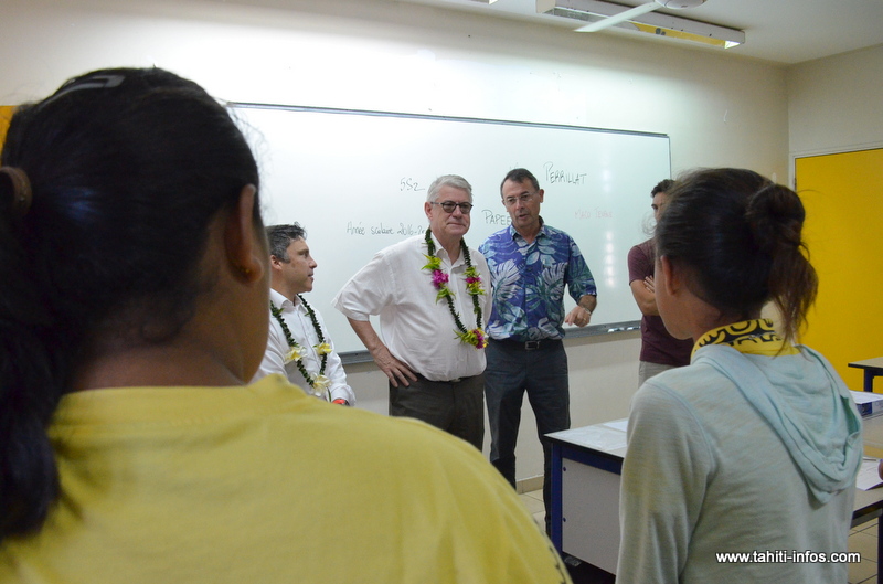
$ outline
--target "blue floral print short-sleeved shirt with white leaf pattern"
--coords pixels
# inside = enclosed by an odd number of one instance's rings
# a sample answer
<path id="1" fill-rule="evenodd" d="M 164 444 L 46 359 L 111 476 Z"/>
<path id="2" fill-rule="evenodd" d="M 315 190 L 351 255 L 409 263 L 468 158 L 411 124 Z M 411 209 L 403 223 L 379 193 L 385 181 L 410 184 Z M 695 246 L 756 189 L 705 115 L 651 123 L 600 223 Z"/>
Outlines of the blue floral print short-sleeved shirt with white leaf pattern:
<path id="1" fill-rule="evenodd" d="M 564 337 L 564 285 L 574 300 L 596 295 L 583 254 L 573 238 L 543 224 L 533 243 L 509 225 L 478 248 L 488 261 L 493 309 L 487 332 L 493 339 L 531 341 Z"/>

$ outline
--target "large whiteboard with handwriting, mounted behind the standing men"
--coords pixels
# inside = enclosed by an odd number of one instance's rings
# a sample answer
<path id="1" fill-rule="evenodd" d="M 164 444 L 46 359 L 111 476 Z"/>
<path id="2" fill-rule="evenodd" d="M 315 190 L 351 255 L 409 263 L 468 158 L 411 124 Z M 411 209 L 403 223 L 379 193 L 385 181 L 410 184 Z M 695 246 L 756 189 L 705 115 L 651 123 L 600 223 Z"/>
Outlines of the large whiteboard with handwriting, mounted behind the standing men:
<path id="1" fill-rule="evenodd" d="M 297 221 L 318 263 L 307 296 L 347 361 L 366 358 L 331 299 L 379 249 L 426 231 L 429 183 L 460 174 L 472 185 L 477 248 L 509 225 L 500 181 L 518 167 L 545 190 L 541 215 L 579 246 L 598 288 L 592 326 L 638 326 L 627 254 L 648 237 L 650 190 L 671 174 L 669 138 L 576 126 L 394 113 L 231 104 L 260 167 L 267 225 Z M 566 309 L 575 302 L 566 297 Z M 377 327 L 376 320 L 374 326 Z"/>

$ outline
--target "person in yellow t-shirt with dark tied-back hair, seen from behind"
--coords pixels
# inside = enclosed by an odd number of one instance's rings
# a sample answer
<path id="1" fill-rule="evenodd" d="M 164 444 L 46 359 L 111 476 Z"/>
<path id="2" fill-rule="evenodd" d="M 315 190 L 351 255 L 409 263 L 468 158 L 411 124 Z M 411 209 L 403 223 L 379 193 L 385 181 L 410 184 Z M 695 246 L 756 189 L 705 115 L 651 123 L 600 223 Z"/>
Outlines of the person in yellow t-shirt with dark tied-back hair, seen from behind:
<path id="1" fill-rule="evenodd" d="M 0 582 L 567 582 L 472 446 L 246 385 L 254 157 L 162 70 L 17 109 L 0 159 Z"/>

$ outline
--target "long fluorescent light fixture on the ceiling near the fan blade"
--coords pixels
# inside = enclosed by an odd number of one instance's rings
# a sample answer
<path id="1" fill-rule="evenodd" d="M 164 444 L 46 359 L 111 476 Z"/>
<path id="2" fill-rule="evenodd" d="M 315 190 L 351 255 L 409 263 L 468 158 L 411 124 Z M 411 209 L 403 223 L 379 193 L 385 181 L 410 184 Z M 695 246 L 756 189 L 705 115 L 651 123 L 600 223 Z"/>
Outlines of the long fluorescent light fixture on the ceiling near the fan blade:
<path id="1" fill-rule="evenodd" d="M 744 31 L 660 14 L 650 11 L 650 7 L 651 4 L 643 4 L 632 8 L 603 0 L 536 0 L 536 12 L 539 13 L 587 23 L 587 25 L 576 29 L 579 32 L 592 32 L 614 25 L 619 29 L 693 41 L 721 49 L 730 49 L 745 42 Z M 642 11 L 643 13 L 638 13 Z M 630 12 L 630 14 L 626 15 L 626 19 L 621 19 L 624 12 Z M 613 24 L 607 22 L 610 17 L 614 19 Z"/>

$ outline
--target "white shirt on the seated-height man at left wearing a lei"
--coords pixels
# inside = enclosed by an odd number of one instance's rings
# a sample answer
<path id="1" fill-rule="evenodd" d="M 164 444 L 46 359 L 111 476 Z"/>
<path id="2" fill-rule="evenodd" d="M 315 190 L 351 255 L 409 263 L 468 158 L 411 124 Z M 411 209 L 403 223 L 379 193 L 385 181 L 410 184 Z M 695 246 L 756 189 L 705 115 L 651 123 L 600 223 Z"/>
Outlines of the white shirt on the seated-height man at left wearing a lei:
<path id="1" fill-rule="evenodd" d="M 295 296 L 295 301 L 292 302 L 273 288 L 269 290 L 269 298 L 276 308 L 281 309 L 283 320 L 285 320 L 285 323 L 288 326 L 288 330 L 291 331 L 291 338 L 294 338 L 295 342 L 304 347 L 306 354 L 301 362 L 307 373 L 315 380 L 316 375 L 319 374 L 322 358 L 316 351 L 316 346 L 319 344 L 319 335 L 312 326 L 312 321 L 310 320 L 309 314 L 307 314 L 307 309 L 304 307 L 304 302 L 301 302 L 300 298 L 297 296 Z M 355 405 L 355 394 L 352 387 L 347 384 L 347 373 L 343 371 L 340 357 L 338 357 L 337 351 L 333 350 L 334 344 L 331 342 L 331 338 L 328 335 L 322 315 L 312 306 L 310 306 L 310 308 L 312 308 L 316 320 L 322 329 L 325 341 L 331 344 L 332 349 L 331 352 L 328 353 L 328 361 L 325 365 L 325 375 L 331 380 L 331 385 L 329 385 L 328 390 L 330 400 L 343 399 L 347 400 L 350 405 Z M 264 360 L 260 362 L 260 368 L 257 370 L 252 383 L 270 373 L 280 373 L 287 376 L 288 381 L 295 385 L 299 385 L 305 392 L 323 397 L 325 394 L 322 392 L 317 392 L 310 387 L 307 380 L 304 379 L 304 375 L 298 370 L 296 361 L 285 362 L 285 355 L 288 354 L 289 350 L 288 341 L 285 338 L 285 331 L 283 331 L 281 325 L 279 325 L 276 317 L 270 312 L 267 350 L 264 353 Z"/>

